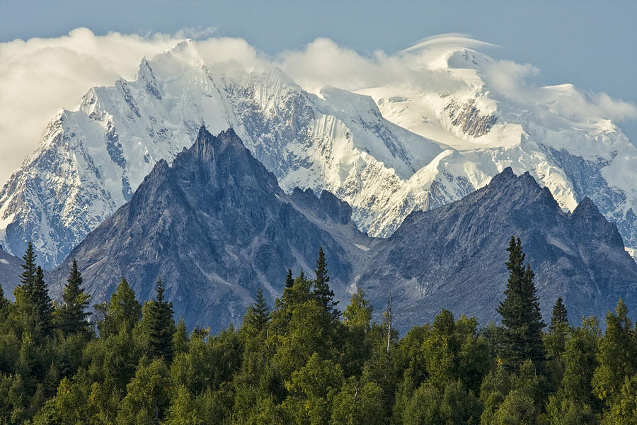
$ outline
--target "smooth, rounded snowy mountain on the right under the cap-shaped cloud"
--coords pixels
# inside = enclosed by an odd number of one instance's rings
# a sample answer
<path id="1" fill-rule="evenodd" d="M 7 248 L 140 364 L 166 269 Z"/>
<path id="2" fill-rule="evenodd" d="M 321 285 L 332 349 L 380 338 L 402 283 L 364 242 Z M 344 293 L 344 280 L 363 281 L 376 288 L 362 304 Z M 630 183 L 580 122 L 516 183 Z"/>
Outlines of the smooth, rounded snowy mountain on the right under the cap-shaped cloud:
<path id="1" fill-rule="evenodd" d="M 480 188 L 507 166 L 530 171 L 562 208 L 594 200 L 626 245 L 637 246 L 637 149 L 611 121 L 578 111 L 582 91 L 563 84 L 520 93 L 498 81 L 489 57 L 457 46 L 407 54 L 464 84 L 450 92 L 396 82 L 360 93 L 387 120 L 457 149 L 445 167 L 451 174 Z"/>

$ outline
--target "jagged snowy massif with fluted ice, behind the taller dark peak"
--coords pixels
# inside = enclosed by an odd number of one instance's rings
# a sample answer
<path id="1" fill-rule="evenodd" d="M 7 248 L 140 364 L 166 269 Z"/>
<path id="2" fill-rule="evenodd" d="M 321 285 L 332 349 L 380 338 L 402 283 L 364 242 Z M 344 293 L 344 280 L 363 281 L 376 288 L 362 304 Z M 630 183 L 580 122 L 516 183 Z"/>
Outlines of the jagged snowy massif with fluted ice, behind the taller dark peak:
<path id="1" fill-rule="evenodd" d="M 134 81 L 94 87 L 78 111 L 52 120 L 0 190 L 8 223 L 0 243 L 18 254 L 32 241 L 42 265 L 57 266 L 157 161 L 171 164 L 190 147 L 201 125 L 214 134 L 236 129 L 287 193 L 333 191 L 353 205 L 361 229 L 377 234 L 396 203 L 391 191 L 443 150 L 384 120 L 367 96 L 325 89 L 321 99 L 278 69 L 208 69 L 183 42 L 142 60 Z"/>

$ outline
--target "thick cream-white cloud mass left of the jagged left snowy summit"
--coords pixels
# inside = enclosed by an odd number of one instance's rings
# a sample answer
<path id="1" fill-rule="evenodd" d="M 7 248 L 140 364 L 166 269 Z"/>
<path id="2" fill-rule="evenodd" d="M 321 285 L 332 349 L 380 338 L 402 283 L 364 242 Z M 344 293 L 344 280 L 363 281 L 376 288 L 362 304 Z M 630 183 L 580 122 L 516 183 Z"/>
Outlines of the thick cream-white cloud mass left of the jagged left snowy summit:
<path id="1" fill-rule="evenodd" d="M 144 55 L 179 40 L 162 34 L 96 36 L 77 28 L 59 38 L 0 43 L 0 181 L 33 151 L 59 109 L 74 108 L 91 86 L 134 77 Z"/>

